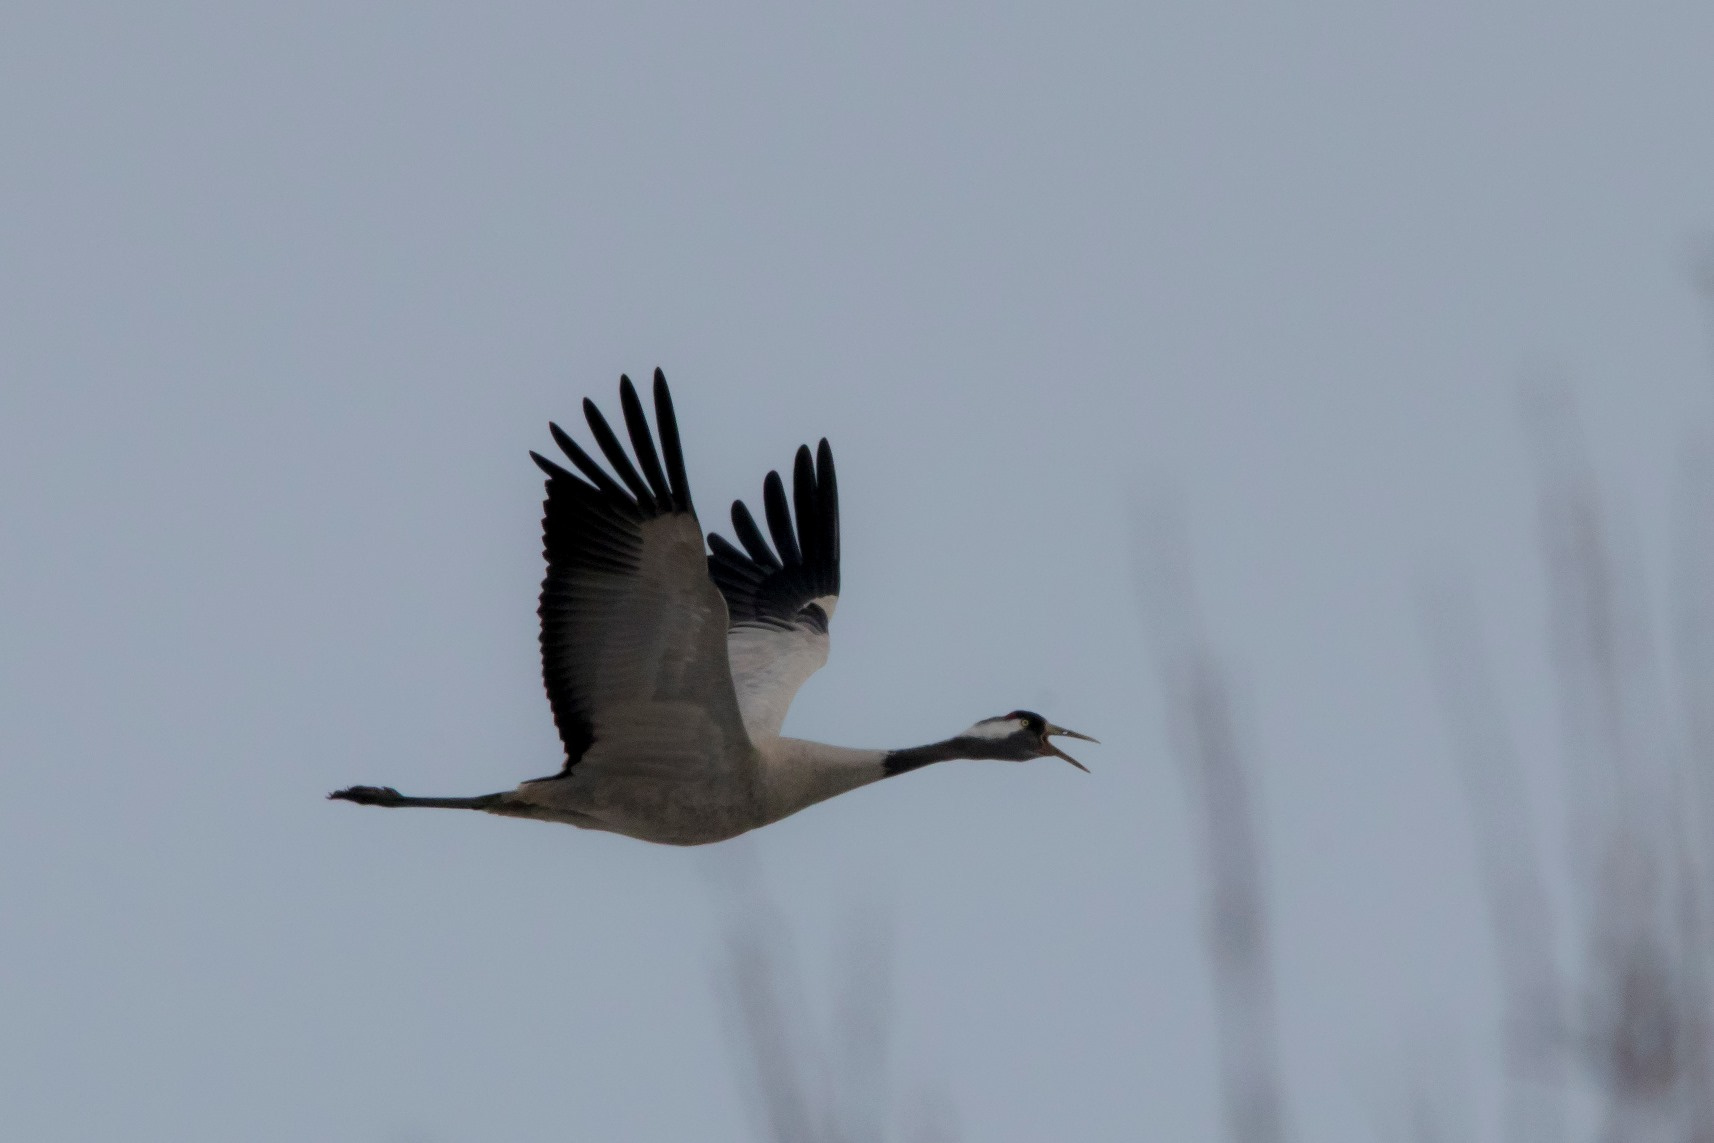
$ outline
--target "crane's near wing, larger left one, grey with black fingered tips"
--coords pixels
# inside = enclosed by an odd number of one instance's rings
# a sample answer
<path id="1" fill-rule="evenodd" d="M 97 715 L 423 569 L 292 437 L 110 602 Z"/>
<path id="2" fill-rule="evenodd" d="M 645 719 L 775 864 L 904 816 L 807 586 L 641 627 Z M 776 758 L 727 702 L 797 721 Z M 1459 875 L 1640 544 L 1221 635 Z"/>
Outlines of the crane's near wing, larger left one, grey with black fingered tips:
<path id="1" fill-rule="evenodd" d="M 629 377 L 619 398 L 636 464 L 583 403 L 619 480 L 559 425 L 548 428 L 581 478 L 530 454 L 547 473 L 542 677 L 566 771 L 588 757 L 603 775 L 747 788 L 756 763 L 727 665 L 727 608 L 708 577 L 667 379 L 655 370 L 660 454 Z"/>

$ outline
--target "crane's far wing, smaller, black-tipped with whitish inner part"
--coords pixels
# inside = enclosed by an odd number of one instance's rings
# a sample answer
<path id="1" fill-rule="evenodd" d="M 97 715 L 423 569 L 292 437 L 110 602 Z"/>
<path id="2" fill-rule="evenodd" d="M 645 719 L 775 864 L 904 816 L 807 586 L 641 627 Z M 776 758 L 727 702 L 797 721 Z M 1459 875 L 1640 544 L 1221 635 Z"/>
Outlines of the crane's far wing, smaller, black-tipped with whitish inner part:
<path id="1" fill-rule="evenodd" d="M 840 596 L 840 488 L 826 440 L 814 461 L 809 446 L 797 449 L 792 506 L 780 473 L 768 473 L 763 507 L 773 548 L 742 500 L 732 502 L 732 531 L 744 548 L 708 536 L 708 574 L 732 613 L 727 656 L 752 740 L 780 733 L 797 689 L 828 661 L 828 620 Z"/>

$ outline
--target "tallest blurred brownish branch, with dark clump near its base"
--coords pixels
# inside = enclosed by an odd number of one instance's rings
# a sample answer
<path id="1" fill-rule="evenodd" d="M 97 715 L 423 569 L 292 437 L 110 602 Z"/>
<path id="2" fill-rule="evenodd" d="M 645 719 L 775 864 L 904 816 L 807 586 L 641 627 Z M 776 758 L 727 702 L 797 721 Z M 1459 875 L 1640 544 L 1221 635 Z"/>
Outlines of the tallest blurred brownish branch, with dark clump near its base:
<path id="1" fill-rule="evenodd" d="M 1692 1140 L 1709 1071 L 1707 836 L 1688 751 L 1657 684 L 1640 574 L 1601 504 L 1567 403 L 1539 422 L 1551 629 L 1567 756 L 1599 771 L 1601 802 L 1575 807 L 1585 896 L 1584 1047 L 1616 1138 Z M 1637 545 L 1632 545 L 1635 550 Z M 1707 703 L 1707 696 L 1690 696 Z M 1591 790 L 1573 790 L 1589 797 Z M 1652 1124 L 1652 1128 L 1649 1126 Z"/>

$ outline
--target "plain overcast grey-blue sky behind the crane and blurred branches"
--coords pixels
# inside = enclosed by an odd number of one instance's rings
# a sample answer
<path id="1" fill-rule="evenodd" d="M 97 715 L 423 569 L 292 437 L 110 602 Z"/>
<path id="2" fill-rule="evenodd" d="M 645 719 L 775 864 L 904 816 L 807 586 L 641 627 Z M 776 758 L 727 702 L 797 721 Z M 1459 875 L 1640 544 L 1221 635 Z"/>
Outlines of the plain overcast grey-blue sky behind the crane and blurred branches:
<path id="1" fill-rule="evenodd" d="M 1171 488 L 1244 679 L 1301 1138 L 1402 1121 L 1424 1059 L 1486 1128 L 1414 591 L 1471 577 L 1551 740 L 1541 375 L 1664 572 L 1711 58 L 1697 2 L 7 5 L 5 1133 L 754 1138 L 718 855 L 322 800 L 557 766 L 524 452 L 655 365 L 708 524 L 836 449 L 790 732 L 1104 740 L 737 843 L 816 996 L 891 917 L 900 1105 L 1219 1129 L 1128 555 Z"/>

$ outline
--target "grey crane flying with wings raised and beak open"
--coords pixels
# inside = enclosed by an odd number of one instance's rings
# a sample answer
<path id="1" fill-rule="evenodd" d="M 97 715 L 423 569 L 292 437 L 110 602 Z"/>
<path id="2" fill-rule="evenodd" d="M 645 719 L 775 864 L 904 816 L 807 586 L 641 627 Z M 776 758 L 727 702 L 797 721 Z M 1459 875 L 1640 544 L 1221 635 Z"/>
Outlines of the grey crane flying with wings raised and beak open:
<path id="1" fill-rule="evenodd" d="M 723 841 L 836 793 L 955 757 L 1022 763 L 1058 756 L 1051 737 L 1088 735 L 1034 711 L 984 718 L 943 742 L 859 751 L 785 739 L 797 689 L 828 661 L 840 595 L 840 497 L 833 451 L 797 449 L 792 495 L 763 482 L 768 536 L 742 500 L 737 543 L 710 535 L 691 506 L 679 422 L 655 370 L 655 432 L 629 377 L 619 404 L 627 454 L 593 401 L 583 403 L 602 468 L 559 425 L 572 473 L 545 456 L 542 675 L 566 764 L 516 790 L 405 797 L 350 787 L 362 805 L 478 809 L 562 821 L 665 845 Z M 795 521 L 794 521 L 795 514 Z"/>

